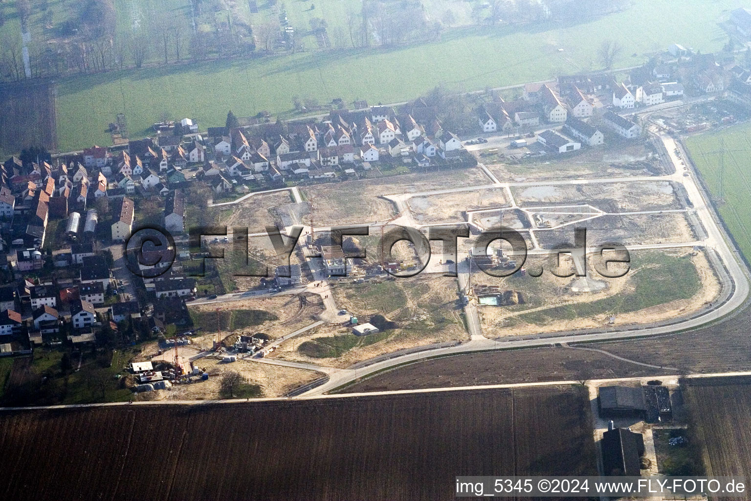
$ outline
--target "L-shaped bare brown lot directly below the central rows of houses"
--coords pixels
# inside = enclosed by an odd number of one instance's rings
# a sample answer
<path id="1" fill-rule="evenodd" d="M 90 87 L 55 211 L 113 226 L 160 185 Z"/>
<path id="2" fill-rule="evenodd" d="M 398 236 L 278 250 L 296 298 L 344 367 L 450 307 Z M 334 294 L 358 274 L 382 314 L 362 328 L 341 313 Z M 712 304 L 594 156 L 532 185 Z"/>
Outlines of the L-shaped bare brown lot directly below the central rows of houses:
<path id="1" fill-rule="evenodd" d="M 390 201 L 379 198 L 382 195 L 488 183 L 490 180 L 480 168 L 471 168 L 321 184 L 302 191 L 313 204 L 315 225 L 327 226 L 384 221 L 396 216 L 396 207 Z"/>

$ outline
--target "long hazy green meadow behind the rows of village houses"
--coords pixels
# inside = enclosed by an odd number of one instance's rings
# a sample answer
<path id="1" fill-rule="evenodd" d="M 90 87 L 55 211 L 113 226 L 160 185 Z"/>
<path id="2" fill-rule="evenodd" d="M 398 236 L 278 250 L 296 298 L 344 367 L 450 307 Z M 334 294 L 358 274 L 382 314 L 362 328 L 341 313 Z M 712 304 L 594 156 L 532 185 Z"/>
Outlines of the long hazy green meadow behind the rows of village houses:
<path id="1" fill-rule="evenodd" d="M 117 8 L 116 23 L 123 29 L 132 23 L 128 2 L 116 3 L 124 5 Z M 307 2 L 287 3 L 291 9 L 304 10 Z M 298 3 L 299 7 L 294 5 Z M 182 8 L 177 7 L 182 4 L 174 5 L 179 11 L 176 15 L 182 15 Z M 315 5 L 316 11 L 331 10 L 335 17 L 341 8 L 335 10 L 333 5 L 345 8 L 345 2 Z M 728 9 L 740 5 L 742 0 L 710 4 L 704 0 L 636 0 L 625 11 L 578 24 L 551 21 L 534 26 L 469 26 L 448 30 L 438 41 L 404 47 L 312 50 L 70 77 L 59 83 L 59 148 L 68 151 L 94 143 L 110 144 L 105 128 L 120 112 L 125 113 L 135 138 L 148 134 L 161 113 L 190 116 L 206 128 L 223 125 L 230 109 L 237 116 L 253 116 L 262 110 L 288 112 L 294 95 L 321 103 L 333 98 L 388 103 L 415 98 L 440 83 L 472 90 L 543 80 L 561 72 L 597 69 L 596 51 L 606 39 L 623 45 L 616 67 L 640 64 L 674 41 L 713 52 L 727 37 L 709 20 L 719 22 Z M 665 12 L 671 15 L 665 16 Z M 294 14 L 290 15 L 294 19 Z M 328 22 L 336 26 L 336 20 Z M 581 43 L 581 33 L 587 33 L 589 43 Z M 439 64 L 403 71 L 415 61 Z M 253 92 L 247 92 L 249 87 Z"/>

